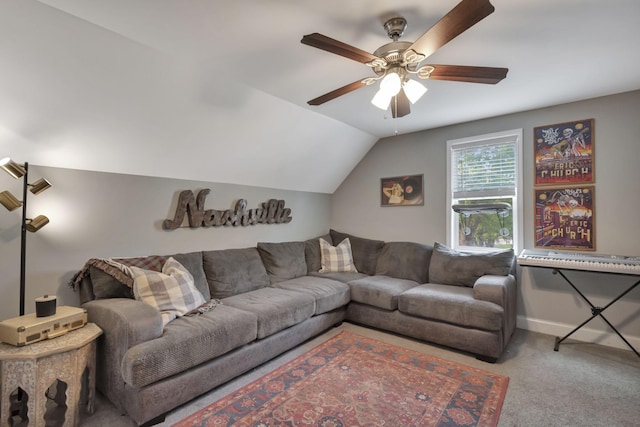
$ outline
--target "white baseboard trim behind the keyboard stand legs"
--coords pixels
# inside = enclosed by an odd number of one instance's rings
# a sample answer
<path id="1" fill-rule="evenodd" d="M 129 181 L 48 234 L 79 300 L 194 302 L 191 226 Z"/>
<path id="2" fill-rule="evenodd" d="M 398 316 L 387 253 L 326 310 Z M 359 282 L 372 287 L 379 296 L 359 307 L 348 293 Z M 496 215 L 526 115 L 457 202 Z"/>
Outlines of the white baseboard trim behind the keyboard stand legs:
<path id="1" fill-rule="evenodd" d="M 577 325 L 568 325 L 566 323 L 550 322 L 548 320 L 534 319 L 531 317 L 518 316 L 516 319 L 516 326 L 520 329 L 526 329 L 531 332 L 540 332 L 547 335 L 553 335 L 556 337 L 564 337 L 571 332 Z M 640 351 L 640 337 L 633 337 L 624 335 L 624 338 Z M 569 339 L 576 341 L 585 341 L 595 344 L 606 345 L 608 347 L 620 348 L 623 350 L 629 350 L 629 346 L 613 331 L 599 331 L 596 329 L 590 329 L 585 325 L 578 331 L 576 331 Z"/>

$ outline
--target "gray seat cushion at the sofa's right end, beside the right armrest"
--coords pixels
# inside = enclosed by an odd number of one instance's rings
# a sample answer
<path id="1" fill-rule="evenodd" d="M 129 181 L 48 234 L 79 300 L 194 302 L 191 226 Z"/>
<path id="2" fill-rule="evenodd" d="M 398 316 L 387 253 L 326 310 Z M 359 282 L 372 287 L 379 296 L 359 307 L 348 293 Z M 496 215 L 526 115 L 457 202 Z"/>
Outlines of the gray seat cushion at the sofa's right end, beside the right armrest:
<path id="1" fill-rule="evenodd" d="M 487 331 L 500 330 L 504 319 L 502 307 L 473 298 L 472 288 L 435 283 L 404 292 L 398 297 L 398 309 L 412 316 Z"/>

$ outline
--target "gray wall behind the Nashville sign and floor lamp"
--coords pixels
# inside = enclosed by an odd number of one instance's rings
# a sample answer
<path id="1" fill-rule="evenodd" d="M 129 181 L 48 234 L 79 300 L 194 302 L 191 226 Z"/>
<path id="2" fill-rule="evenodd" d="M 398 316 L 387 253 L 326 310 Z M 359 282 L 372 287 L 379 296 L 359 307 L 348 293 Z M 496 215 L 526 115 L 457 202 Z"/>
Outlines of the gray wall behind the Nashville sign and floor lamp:
<path id="1" fill-rule="evenodd" d="M 67 283 L 91 257 L 249 247 L 259 241 L 304 240 L 329 229 L 327 194 L 32 165 L 29 169 L 30 182 L 45 177 L 53 187 L 38 196 L 29 193 L 28 216 L 44 214 L 51 222 L 35 234 L 27 233 L 26 313 L 35 310 L 34 299 L 44 294 L 56 294 L 58 305 L 77 305 L 77 294 Z M 8 189 L 21 199 L 21 185 L 22 180 L 0 174 L 0 191 Z M 230 209 L 241 198 L 249 209 L 282 199 L 293 220 L 163 230 L 162 221 L 173 218 L 179 192 L 202 188 L 211 189 L 207 209 Z M 0 319 L 6 319 L 19 313 L 20 210 L 0 208 L 0 272 Z"/>

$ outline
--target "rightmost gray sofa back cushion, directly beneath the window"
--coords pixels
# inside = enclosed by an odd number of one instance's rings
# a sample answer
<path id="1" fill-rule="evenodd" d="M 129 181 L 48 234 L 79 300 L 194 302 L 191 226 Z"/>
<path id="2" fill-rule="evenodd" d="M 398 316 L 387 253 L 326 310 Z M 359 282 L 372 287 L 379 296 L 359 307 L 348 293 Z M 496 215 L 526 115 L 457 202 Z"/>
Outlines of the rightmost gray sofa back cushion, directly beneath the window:
<path id="1" fill-rule="evenodd" d="M 442 243 L 434 243 L 429 263 L 429 282 L 473 287 L 480 276 L 506 276 L 513 265 L 513 249 L 472 254 L 458 252 Z"/>

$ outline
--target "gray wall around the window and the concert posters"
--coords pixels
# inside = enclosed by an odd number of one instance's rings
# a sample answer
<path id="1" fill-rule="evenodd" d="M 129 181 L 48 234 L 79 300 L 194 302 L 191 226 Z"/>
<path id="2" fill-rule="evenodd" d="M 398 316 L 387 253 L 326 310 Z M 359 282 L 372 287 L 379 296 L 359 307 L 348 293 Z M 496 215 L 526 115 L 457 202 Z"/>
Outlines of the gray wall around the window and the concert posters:
<path id="1" fill-rule="evenodd" d="M 533 128 L 594 118 L 596 250 L 640 256 L 639 111 L 640 91 L 636 91 L 380 140 L 334 193 L 331 226 L 383 240 L 445 242 L 446 214 L 450 209 L 445 194 L 446 141 L 522 128 L 524 247 L 532 248 Z M 424 174 L 425 205 L 380 207 L 380 178 L 407 174 Z M 524 268 L 519 270 L 519 276 L 519 327 L 564 335 L 590 316 L 589 307 L 549 270 Z M 596 305 L 605 305 L 634 280 L 580 272 L 570 273 L 570 278 L 593 297 Z M 640 349 L 640 289 L 604 314 Z M 576 336 L 628 348 L 609 332 L 601 319 L 594 319 Z"/>

